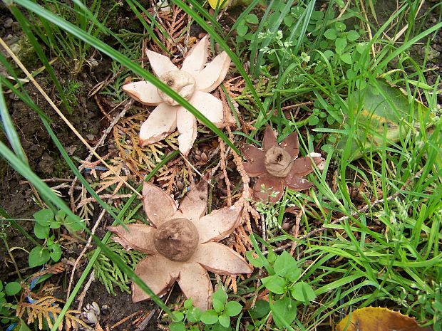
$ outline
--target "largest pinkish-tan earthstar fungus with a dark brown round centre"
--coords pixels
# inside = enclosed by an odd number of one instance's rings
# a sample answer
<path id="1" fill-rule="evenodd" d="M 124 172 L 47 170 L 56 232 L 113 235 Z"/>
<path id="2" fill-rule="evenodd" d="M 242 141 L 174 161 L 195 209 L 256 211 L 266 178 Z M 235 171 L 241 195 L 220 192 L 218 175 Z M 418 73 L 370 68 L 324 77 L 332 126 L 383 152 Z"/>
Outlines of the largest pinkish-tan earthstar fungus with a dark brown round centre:
<path id="1" fill-rule="evenodd" d="M 153 290 L 163 295 L 178 281 L 186 298 L 195 307 L 207 310 L 213 293 L 207 270 L 222 275 L 252 273 L 240 254 L 217 243 L 239 225 L 242 207 L 231 206 L 207 211 L 207 180 L 191 189 L 178 208 L 175 201 L 157 186 L 144 183 L 143 207 L 150 224 L 111 226 L 114 241 L 126 249 L 148 253 L 135 273 Z M 149 299 L 132 283 L 134 303 Z"/>

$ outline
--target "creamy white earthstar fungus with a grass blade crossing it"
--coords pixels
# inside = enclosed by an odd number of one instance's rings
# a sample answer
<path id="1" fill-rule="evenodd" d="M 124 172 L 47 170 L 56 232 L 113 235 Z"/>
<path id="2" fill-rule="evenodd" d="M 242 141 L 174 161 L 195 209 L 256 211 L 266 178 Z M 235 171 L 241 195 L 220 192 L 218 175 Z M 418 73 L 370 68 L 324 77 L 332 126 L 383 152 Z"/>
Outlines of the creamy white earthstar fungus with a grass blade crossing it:
<path id="1" fill-rule="evenodd" d="M 167 56 L 150 50 L 146 53 L 153 73 L 163 83 L 175 90 L 210 122 L 217 127 L 224 127 L 222 101 L 210 92 L 215 90 L 227 75 L 230 58 L 223 51 L 212 62 L 207 63 L 208 45 L 209 40 L 205 36 L 189 51 L 181 69 Z M 128 83 L 123 85 L 122 89 L 140 103 L 157 106 L 141 125 L 140 146 L 159 142 L 178 128 L 179 149 L 187 156 L 197 136 L 195 116 L 147 81 Z"/>

